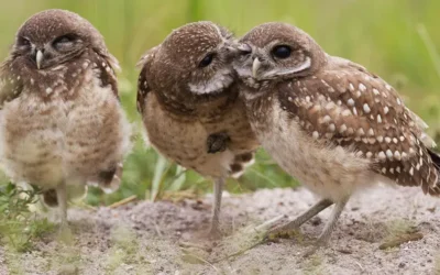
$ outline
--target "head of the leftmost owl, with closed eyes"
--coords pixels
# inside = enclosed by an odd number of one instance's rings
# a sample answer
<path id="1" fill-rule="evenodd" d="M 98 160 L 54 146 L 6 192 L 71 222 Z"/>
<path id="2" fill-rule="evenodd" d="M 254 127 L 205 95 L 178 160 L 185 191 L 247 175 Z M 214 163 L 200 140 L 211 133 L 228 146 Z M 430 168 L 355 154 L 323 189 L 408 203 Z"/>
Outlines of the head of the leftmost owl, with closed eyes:
<path id="1" fill-rule="evenodd" d="M 46 10 L 31 16 L 16 33 L 13 58 L 23 66 L 47 69 L 67 63 L 87 48 L 107 53 L 101 34 L 85 19 L 64 10 Z"/>

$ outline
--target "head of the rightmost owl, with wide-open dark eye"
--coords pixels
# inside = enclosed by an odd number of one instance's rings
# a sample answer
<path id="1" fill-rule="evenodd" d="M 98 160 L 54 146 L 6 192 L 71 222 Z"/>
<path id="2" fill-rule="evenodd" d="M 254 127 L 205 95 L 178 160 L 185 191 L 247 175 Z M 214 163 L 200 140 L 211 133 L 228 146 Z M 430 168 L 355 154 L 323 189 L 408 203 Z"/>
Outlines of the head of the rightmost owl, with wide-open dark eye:
<path id="1" fill-rule="evenodd" d="M 326 53 L 307 33 L 286 23 L 265 23 L 241 40 L 252 48 L 234 62 L 248 81 L 284 80 L 308 76 L 326 63 Z"/>

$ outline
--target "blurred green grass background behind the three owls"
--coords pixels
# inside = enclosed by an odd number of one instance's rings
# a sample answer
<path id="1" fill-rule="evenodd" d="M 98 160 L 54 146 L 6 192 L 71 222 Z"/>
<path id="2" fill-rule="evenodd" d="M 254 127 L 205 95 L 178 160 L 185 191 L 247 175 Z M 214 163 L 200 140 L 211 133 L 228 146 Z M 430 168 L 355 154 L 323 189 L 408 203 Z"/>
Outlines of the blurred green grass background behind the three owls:
<path id="1" fill-rule="evenodd" d="M 130 119 L 142 132 L 135 111 L 135 63 L 185 23 L 211 20 L 242 35 L 267 21 L 284 21 L 304 29 L 332 55 L 358 62 L 399 89 L 407 105 L 428 124 L 440 130 L 440 1 L 432 0 L 1 0 L 0 56 L 6 58 L 14 33 L 33 13 L 61 8 L 79 13 L 106 37 L 120 61 L 121 97 Z M 211 191 L 211 183 L 184 172 L 144 145 L 136 145 L 125 163 L 123 184 L 111 195 L 92 189 L 91 205 L 139 199 L 179 198 Z M 240 180 L 230 180 L 231 193 L 296 186 L 264 153 Z"/>

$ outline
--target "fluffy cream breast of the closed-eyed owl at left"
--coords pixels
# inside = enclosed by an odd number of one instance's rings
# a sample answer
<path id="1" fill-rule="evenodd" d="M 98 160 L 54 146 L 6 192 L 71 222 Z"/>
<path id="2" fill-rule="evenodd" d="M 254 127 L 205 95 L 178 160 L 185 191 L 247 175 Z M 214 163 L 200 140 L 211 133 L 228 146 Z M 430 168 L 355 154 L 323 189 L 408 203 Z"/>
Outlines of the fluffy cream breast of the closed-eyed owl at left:
<path id="1" fill-rule="evenodd" d="M 7 174 L 53 187 L 61 180 L 85 184 L 122 162 L 130 150 L 130 124 L 111 86 L 84 82 L 75 97 L 50 100 L 23 90 L 4 105 L 0 154 Z"/>

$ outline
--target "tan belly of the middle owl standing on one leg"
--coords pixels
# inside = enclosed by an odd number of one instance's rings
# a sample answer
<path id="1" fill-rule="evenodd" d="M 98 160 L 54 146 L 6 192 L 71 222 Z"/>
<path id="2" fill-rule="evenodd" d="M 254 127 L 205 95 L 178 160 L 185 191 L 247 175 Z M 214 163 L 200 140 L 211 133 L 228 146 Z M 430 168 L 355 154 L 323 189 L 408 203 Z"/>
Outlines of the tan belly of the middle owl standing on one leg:
<path id="1" fill-rule="evenodd" d="M 208 154 L 208 136 L 211 133 L 197 119 L 170 114 L 150 94 L 144 109 L 143 122 L 150 143 L 162 155 L 177 164 L 207 177 L 227 176 L 234 153 L 230 150 Z"/>

